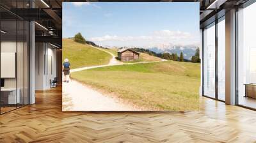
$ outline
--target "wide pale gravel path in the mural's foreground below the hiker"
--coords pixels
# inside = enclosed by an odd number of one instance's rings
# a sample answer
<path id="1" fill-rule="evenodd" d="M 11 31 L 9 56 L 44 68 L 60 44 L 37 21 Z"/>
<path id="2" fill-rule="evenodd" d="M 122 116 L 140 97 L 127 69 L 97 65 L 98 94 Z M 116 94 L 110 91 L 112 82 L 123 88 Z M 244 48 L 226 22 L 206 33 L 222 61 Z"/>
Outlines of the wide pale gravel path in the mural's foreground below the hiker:
<path id="1" fill-rule="evenodd" d="M 84 86 L 76 80 L 63 82 L 63 111 L 132 111 L 139 110 L 115 98 Z"/>

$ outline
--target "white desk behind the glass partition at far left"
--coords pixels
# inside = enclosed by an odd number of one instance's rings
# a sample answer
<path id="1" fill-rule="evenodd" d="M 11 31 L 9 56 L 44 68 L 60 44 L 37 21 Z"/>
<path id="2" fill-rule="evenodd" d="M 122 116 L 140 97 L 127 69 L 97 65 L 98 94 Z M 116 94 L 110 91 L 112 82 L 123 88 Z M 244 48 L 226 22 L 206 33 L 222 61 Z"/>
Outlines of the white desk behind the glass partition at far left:
<path id="1" fill-rule="evenodd" d="M 4 93 L 4 94 L 8 93 L 8 104 L 20 103 L 20 89 L 18 88 L 17 91 L 18 91 L 18 94 L 16 98 L 16 88 L 1 89 L 1 93 Z"/>

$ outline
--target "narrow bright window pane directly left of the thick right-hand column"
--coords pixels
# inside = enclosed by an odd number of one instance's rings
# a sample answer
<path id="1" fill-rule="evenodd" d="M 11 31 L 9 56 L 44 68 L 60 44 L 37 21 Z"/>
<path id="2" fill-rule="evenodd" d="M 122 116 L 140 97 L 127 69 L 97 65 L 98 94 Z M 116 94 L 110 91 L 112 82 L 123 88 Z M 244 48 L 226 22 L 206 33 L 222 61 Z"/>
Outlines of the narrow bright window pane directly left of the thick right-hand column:
<path id="1" fill-rule="evenodd" d="M 225 19 L 223 19 L 218 22 L 218 99 L 223 101 L 225 101 L 225 61 Z"/>

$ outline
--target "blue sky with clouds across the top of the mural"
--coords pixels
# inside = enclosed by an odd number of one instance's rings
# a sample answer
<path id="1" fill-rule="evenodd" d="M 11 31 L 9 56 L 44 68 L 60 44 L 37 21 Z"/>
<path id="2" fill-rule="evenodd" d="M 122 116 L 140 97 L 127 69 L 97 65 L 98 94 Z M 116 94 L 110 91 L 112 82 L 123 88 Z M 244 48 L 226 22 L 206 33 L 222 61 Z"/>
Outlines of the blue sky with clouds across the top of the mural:
<path id="1" fill-rule="evenodd" d="M 198 45 L 199 3 L 63 3 L 63 38 L 109 47 Z"/>

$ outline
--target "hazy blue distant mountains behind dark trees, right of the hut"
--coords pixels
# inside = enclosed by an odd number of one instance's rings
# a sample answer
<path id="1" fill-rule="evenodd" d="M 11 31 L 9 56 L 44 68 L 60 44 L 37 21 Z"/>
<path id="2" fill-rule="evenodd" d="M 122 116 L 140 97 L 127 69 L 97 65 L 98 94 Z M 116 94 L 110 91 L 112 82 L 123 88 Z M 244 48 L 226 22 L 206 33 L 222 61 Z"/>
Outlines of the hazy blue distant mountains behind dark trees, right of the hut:
<path id="1" fill-rule="evenodd" d="M 151 50 L 153 52 L 156 52 L 157 54 L 163 54 L 163 53 L 177 53 L 178 56 L 180 56 L 180 52 L 183 52 L 184 59 L 191 60 L 191 57 L 195 55 L 197 47 L 183 47 L 183 46 L 173 46 L 166 49 L 160 49 L 157 47 L 149 48 L 148 50 Z"/>

